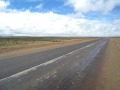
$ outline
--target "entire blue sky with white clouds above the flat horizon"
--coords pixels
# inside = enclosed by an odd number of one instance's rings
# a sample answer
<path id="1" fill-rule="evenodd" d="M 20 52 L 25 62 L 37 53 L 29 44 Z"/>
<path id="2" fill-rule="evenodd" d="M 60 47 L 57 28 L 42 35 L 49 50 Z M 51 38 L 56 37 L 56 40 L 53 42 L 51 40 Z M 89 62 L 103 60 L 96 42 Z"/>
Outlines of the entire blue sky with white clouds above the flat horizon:
<path id="1" fill-rule="evenodd" d="M 0 36 L 120 36 L 120 0 L 0 0 Z"/>

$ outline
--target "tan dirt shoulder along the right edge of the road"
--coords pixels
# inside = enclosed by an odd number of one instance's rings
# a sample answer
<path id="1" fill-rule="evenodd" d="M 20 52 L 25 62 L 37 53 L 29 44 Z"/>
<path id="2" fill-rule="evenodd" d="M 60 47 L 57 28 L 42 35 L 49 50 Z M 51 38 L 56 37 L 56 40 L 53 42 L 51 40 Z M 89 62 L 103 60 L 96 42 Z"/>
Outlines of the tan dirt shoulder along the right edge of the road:
<path id="1" fill-rule="evenodd" d="M 117 46 L 120 44 L 117 44 L 118 40 L 110 39 L 95 90 L 120 90 L 120 48 Z"/>

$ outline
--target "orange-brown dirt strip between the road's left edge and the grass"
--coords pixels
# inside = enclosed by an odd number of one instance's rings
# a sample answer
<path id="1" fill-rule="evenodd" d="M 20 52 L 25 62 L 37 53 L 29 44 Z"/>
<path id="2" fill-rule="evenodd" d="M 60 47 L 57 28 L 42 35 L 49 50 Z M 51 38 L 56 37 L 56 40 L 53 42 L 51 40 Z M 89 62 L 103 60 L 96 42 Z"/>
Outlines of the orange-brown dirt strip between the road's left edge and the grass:
<path id="1" fill-rule="evenodd" d="M 31 45 L 27 45 L 24 47 L 17 47 L 12 49 L 6 49 L 0 51 L 0 59 L 6 59 L 21 55 L 26 55 L 30 53 L 36 53 L 40 51 L 45 51 L 48 49 L 63 47 L 67 45 L 77 44 L 77 43 L 83 43 L 91 40 L 95 40 L 98 38 L 80 38 L 80 39 L 70 39 L 70 40 L 63 40 L 60 42 L 45 42 L 45 43 L 34 43 Z"/>

